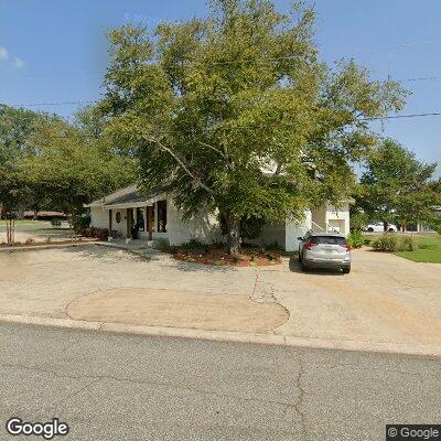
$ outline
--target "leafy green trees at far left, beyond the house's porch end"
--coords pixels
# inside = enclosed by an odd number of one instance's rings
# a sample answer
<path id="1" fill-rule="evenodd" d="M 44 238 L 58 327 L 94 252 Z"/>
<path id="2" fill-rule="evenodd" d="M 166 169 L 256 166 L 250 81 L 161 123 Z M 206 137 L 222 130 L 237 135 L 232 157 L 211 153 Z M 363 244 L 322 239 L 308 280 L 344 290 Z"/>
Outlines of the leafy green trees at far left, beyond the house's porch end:
<path id="1" fill-rule="evenodd" d="M 71 220 L 85 203 L 136 179 L 136 161 L 103 136 L 105 123 L 92 107 L 68 123 L 0 106 L 0 205 L 8 225 L 30 208 L 61 211 Z M 8 238 L 13 241 L 13 230 Z"/>

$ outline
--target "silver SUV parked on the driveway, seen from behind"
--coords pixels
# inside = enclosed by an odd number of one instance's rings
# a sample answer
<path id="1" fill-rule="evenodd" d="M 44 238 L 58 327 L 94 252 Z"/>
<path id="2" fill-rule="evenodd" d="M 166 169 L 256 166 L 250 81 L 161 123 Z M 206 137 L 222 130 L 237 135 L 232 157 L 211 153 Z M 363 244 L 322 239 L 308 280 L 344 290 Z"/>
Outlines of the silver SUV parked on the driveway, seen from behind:
<path id="1" fill-rule="evenodd" d="M 310 268 L 333 268 L 345 275 L 351 272 L 351 246 L 337 233 L 306 233 L 298 237 L 299 261 L 302 270 Z"/>

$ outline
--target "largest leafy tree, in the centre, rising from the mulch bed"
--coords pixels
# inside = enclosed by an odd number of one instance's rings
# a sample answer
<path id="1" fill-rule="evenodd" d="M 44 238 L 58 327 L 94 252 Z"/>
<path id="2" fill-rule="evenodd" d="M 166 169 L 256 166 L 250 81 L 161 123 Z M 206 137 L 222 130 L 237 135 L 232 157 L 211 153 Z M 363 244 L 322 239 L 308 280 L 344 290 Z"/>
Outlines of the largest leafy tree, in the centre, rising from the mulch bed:
<path id="1" fill-rule="evenodd" d="M 154 35 L 109 33 L 106 133 L 137 155 L 144 186 L 170 182 L 184 216 L 218 211 L 233 254 L 244 219 L 301 219 L 346 197 L 351 162 L 375 141 L 366 118 L 404 106 L 397 83 L 321 63 L 314 23 L 299 4 L 216 0 L 207 19 Z"/>

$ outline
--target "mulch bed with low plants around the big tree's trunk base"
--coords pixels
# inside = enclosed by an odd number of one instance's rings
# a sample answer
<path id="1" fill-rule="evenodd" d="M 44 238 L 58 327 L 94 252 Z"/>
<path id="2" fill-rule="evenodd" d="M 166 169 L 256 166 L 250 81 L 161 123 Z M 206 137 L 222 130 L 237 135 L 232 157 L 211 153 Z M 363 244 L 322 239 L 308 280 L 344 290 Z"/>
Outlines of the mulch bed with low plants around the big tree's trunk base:
<path id="1" fill-rule="evenodd" d="M 281 263 L 279 251 L 269 251 L 257 247 L 244 247 L 236 256 L 230 256 L 224 248 L 218 247 L 196 249 L 175 247 L 169 251 L 178 260 L 219 267 L 263 267 Z"/>

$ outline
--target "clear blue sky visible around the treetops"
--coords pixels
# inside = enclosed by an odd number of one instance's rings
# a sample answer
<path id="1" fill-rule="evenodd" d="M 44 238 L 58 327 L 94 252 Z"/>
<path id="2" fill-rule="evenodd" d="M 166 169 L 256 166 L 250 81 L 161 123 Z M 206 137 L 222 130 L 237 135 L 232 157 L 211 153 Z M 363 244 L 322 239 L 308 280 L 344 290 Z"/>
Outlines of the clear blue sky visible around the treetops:
<path id="1" fill-rule="evenodd" d="M 276 0 L 287 10 L 290 1 Z M 441 111 L 441 1 L 316 0 L 321 57 L 353 57 L 374 78 L 404 82 L 405 114 Z M 94 100 L 107 64 L 105 31 L 206 13 L 204 0 L 0 0 L 0 103 Z M 71 116 L 76 105 L 35 106 Z M 378 125 L 421 159 L 441 161 L 440 117 Z"/>

